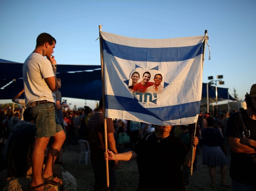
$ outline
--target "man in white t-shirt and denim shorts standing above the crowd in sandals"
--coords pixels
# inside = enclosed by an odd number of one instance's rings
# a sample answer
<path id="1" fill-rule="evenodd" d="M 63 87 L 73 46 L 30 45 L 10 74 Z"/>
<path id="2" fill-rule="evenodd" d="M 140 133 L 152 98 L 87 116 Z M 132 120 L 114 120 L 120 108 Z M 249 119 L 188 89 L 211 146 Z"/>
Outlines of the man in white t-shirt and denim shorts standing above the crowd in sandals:
<path id="1" fill-rule="evenodd" d="M 28 190 L 55 190 L 49 184 L 61 186 L 62 180 L 53 174 L 52 166 L 66 139 L 65 132 L 56 115 L 55 91 L 59 89 L 56 79 L 54 53 L 56 40 L 48 33 L 37 37 L 35 50 L 22 67 L 26 107 L 35 122 L 35 141 L 32 152 L 32 182 Z M 49 143 L 50 138 L 51 144 Z M 49 143 L 49 145 L 48 145 Z M 44 154 L 46 164 L 44 171 Z"/>

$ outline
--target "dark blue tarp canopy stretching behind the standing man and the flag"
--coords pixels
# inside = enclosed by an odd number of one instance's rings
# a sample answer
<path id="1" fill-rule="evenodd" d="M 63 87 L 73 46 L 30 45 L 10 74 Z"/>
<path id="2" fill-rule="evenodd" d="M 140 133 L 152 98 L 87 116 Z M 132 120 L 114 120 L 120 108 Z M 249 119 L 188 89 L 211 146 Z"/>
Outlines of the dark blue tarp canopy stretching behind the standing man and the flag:
<path id="1" fill-rule="evenodd" d="M 12 99 L 23 88 L 22 65 L 0 59 L 0 99 Z M 102 80 L 100 65 L 61 65 L 57 66 L 57 76 L 62 81 L 62 97 L 100 100 Z M 202 84 L 202 99 L 207 97 L 207 83 Z M 234 100 L 227 88 L 218 87 L 218 100 Z M 215 86 L 208 86 L 209 98 L 215 100 Z M 24 94 L 22 94 L 24 98 Z"/>

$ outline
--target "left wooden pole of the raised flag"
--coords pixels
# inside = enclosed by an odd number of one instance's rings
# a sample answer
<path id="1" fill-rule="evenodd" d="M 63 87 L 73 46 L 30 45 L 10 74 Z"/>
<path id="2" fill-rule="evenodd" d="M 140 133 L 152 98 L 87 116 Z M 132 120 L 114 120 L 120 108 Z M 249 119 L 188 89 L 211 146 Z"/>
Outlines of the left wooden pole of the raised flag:
<path id="1" fill-rule="evenodd" d="M 103 101 L 103 116 L 104 116 L 104 137 L 105 137 L 105 152 L 107 153 L 108 150 L 108 142 L 107 142 L 107 128 L 106 128 L 106 106 L 105 106 L 105 77 L 104 77 L 104 62 L 103 62 L 103 48 L 102 48 L 102 37 L 101 37 L 101 29 L 102 25 L 99 25 L 99 46 L 100 46 L 100 62 L 101 62 L 101 81 L 102 81 L 102 101 Z M 110 180 L 109 180 L 109 163 L 108 160 L 106 160 L 106 187 L 110 186 Z"/>

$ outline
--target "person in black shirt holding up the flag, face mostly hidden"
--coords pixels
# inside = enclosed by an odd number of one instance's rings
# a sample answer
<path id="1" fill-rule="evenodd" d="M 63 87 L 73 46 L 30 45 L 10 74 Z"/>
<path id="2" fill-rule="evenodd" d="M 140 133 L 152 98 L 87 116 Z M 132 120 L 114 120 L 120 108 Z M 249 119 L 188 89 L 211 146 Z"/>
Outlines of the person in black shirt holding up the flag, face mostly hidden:
<path id="1" fill-rule="evenodd" d="M 143 137 L 132 151 L 114 154 L 108 150 L 104 155 L 105 159 L 114 161 L 137 159 L 139 169 L 137 191 L 185 191 L 181 165 L 190 166 L 191 149 L 188 151 L 187 146 L 178 137 L 170 134 L 171 130 L 172 126 L 157 126 L 157 133 Z M 198 138 L 192 136 L 190 144 L 195 147 L 195 156 Z"/>

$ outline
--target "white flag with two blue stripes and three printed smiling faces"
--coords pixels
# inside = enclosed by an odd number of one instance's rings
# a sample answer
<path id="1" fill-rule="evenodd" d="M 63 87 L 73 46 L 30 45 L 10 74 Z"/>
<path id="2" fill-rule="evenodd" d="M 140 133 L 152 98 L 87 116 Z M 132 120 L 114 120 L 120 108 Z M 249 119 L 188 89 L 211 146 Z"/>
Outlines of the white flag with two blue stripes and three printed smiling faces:
<path id="1" fill-rule="evenodd" d="M 155 125 L 197 122 L 206 36 L 138 39 L 100 31 L 100 37 L 105 117 Z"/>

